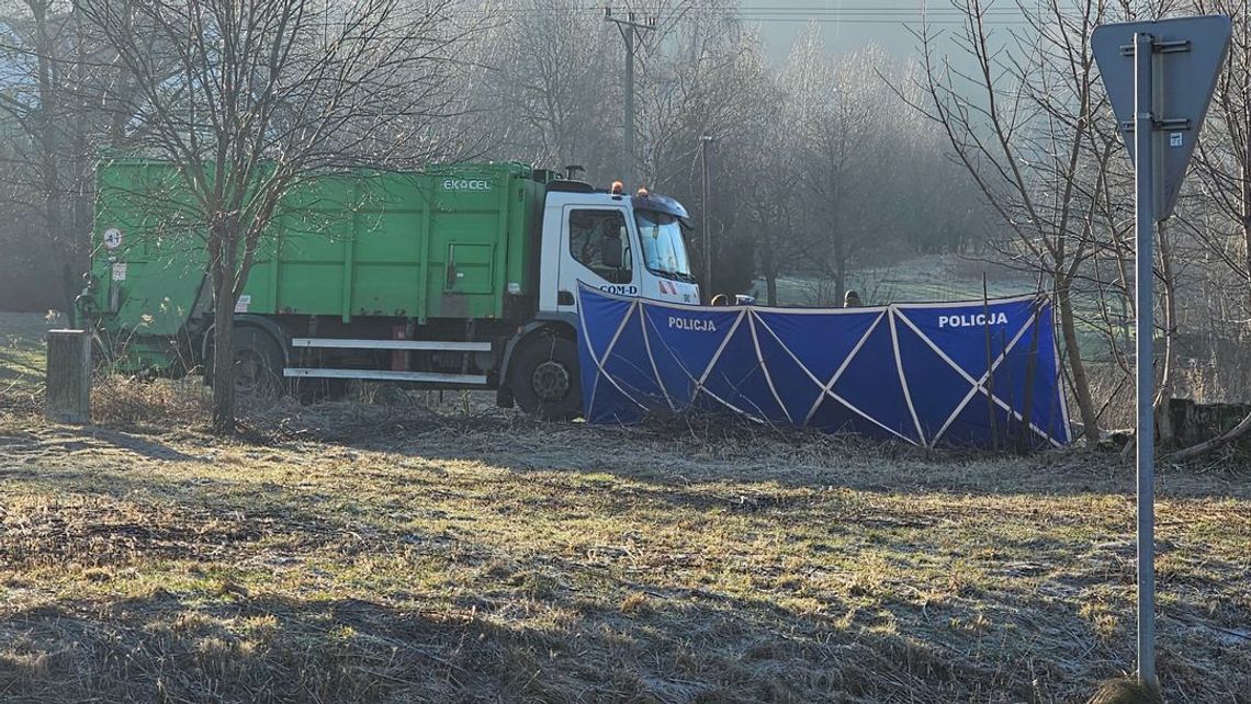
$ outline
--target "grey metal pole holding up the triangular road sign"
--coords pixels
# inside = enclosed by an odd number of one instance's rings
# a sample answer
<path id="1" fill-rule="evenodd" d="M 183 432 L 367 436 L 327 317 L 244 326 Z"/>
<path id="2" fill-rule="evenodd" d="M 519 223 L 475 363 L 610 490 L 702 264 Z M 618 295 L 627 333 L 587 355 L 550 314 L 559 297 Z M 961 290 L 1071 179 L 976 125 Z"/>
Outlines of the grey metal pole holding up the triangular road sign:
<path id="1" fill-rule="evenodd" d="M 1156 573 L 1155 573 L 1155 304 L 1152 283 L 1152 244 L 1155 213 L 1155 174 L 1150 34 L 1133 35 L 1133 210 L 1137 254 L 1135 261 L 1135 299 L 1137 300 L 1137 464 L 1138 464 L 1138 681 L 1156 685 Z"/>

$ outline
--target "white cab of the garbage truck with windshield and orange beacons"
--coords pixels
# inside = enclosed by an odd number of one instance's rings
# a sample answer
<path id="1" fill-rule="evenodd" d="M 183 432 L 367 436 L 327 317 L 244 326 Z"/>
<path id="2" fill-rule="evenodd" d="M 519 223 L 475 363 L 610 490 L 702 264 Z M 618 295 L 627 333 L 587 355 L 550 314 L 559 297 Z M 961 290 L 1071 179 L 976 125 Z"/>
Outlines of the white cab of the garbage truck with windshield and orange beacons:
<path id="1" fill-rule="evenodd" d="M 577 314 L 579 281 L 614 294 L 698 304 L 699 285 L 682 238 L 687 218 L 677 200 L 643 190 L 549 190 L 539 313 Z"/>

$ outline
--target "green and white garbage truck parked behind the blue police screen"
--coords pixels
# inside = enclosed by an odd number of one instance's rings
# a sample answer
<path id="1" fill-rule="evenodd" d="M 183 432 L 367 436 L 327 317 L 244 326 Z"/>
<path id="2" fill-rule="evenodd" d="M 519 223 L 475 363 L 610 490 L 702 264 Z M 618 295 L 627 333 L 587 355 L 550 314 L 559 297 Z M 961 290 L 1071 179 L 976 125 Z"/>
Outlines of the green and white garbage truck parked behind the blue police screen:
<path id="1" fill-rule="evenodd" d="M 178 174 L 145 159 L 96 169 L 78 308 L 121 371 L 214 366 L 205 228 Z M 235 303 L 240 398 L 374 380 L 495 390 L 502 406 L 578 415 L 579 284 L 691 304 L 699 289 L 681 203 L 572 175 L 475 163 L 290 189 Z"/>

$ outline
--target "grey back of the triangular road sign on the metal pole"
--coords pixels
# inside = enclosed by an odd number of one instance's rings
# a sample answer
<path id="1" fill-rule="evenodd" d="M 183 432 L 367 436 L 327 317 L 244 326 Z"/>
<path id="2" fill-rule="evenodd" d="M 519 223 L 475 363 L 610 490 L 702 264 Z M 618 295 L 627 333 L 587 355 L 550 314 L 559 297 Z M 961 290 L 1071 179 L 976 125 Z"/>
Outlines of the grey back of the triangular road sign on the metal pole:
<path id="1" fill-rule="evenodd" d="M 1226 15 L 1171 18 L 1146 23 L 1100 25 L 1091 49 L 1107 89 L 1121 135 L 1133 159 L 1133 35 L 1150 34 L 1156 44 L 1152 114 L 1157 128 L 1155 215 L 1172 214 L 1198 130 L 1216 90 L 1216 79 L 1230 46 L 1232 25 Z M 1126 50 L 1128 48 L 1128 50 Z M 1163 125 L 1161 126 L 1161 121 Z M 1185 121 L 1185 126 L 1180 121 Z M 1170 124 L 1176 126 L 1170 126 Z"/>

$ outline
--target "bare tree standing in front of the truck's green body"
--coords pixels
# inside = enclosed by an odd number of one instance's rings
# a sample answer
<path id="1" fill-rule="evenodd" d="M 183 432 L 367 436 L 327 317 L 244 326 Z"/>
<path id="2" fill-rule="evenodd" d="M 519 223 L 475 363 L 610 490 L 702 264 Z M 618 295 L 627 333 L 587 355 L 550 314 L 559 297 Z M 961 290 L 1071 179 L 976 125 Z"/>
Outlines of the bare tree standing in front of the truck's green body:
<path id="1" fill-rule="evenodd" d="M 234 305 L 285 194 L 360 164 L 412 164 L 450 105 L 450 0 L 83 0 L 131 90 L 144 154 L 176 166 L 213 293 L 213 425 L 234 428 Z"/>

